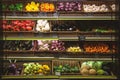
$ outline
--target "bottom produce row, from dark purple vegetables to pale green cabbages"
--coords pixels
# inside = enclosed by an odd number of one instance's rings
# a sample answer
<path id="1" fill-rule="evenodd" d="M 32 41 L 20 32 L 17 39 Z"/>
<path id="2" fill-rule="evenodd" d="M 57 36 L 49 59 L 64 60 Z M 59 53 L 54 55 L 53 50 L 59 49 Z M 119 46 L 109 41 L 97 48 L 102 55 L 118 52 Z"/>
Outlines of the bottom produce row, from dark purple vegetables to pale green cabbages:
<path id="1" fill-rule="evenodd" d="M 105 61 L 52 61 L 52 66 L 47 62 L 12 62 L 4 68 L 6 75 L 112 75 L 112 62 Z M 52 73 L 51 73 L 52 72 Z"/>

